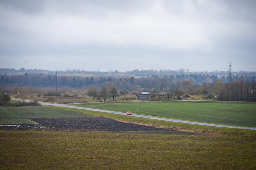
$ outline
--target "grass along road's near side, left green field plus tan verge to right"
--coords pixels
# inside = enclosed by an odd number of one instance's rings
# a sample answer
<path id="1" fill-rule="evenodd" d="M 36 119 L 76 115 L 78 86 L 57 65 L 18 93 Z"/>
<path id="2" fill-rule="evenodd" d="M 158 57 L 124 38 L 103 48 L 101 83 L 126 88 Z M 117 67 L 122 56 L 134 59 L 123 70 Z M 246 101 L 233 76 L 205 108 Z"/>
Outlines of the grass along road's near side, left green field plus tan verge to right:
<path id="1" fill-rule="evenodd" d="M 256 135 L 255 130 L 242 130 L 221 127 L 209 127 L 203 125 L 184 124 L 178 122 L 160 121 L 154 119 L 137 118 L 134 116 L 116 115 L 111 113 L 93 112 L 89 110 L 61 108 L 53 106 L 37 106 L 37 107 L 0 107 L 0 124 L 36 124 L 30 118 L 45 117 L 81 117 L 81 116 L 104 116 L 118 121 L 132 122 L 143 125 L 151 125 L 154 127 L 168 128 L 173 130 L 184 130 L 192 132 L 203 132 L 213 134 L 229 134 L 239 135 L 245 134 L 249 136 Z"/>

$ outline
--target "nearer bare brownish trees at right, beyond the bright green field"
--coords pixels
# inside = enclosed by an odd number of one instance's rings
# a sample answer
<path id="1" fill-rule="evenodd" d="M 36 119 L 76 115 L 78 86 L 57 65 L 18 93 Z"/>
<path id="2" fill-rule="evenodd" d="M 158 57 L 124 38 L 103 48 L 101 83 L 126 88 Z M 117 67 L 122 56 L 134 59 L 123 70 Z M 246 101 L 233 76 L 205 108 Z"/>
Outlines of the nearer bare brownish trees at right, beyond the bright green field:
<path id="1" fill-rule="evenodd" d="M 248 78 L 245 79 L 244 76 L 241 76 L 238 80 L 226 84 L 221 80 L 202 85 L 193 85 L 183 81 L 182 84 L 172 84 L 166 92 L 168 98 L 177 96 L 179 99 L 181 95 L 187 94 L 188 89 L 190 89 L 190 95 L 206 95 L 218 100 L 256 101 L 255 88 L 256 81 L 254 77 L 250 81 Z"/>

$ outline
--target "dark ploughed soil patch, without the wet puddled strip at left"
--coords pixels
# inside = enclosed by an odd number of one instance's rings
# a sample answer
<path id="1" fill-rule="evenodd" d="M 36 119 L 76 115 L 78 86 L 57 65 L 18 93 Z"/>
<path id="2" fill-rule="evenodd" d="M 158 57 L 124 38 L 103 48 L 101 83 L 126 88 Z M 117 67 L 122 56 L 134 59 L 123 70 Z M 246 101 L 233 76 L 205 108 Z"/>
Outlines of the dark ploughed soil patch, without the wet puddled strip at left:
<path id="1" fill-rule="evenodd" d="M 112 131 L 112 132 L 139 132 L 139 133 L 154 133 L 160 132 L 166 134 L 189 134 L 198 135 L 200 133 L 168 130 L 133 123 L 126 123 L 109 119 L 105 117 L 70 117 L 70 118 L 33 118 L 39 125 L 47 130 L 53 131 Z"/>

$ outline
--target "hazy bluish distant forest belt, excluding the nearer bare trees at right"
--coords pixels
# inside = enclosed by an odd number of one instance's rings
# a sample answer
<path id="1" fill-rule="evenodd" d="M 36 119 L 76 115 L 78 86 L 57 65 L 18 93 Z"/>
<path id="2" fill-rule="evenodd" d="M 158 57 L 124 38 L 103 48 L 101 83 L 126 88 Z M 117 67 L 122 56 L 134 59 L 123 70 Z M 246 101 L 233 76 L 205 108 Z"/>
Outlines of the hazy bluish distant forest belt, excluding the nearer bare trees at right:
<path id="1" fill-rule="evenodd" d="M 183 75 L 151 75 L 147 77 L 114 77 L 114 76 L 58 76 L 58 86 L 84 87 L 96 85 L 101 87 L 105 82 L 114 83 L 118 89 L 154 88 L 156 86 L 165 89 L 170 83 L 189 79 L 195 84 L 203 84 L 207 81 L 218 79 L 215 75 L 183 74 Z M 0 84 L 16 84 L 20 86 L 56 86 L 56 75 L 46 73 L 25 73 L 24 75 L 0 75 Z"/>

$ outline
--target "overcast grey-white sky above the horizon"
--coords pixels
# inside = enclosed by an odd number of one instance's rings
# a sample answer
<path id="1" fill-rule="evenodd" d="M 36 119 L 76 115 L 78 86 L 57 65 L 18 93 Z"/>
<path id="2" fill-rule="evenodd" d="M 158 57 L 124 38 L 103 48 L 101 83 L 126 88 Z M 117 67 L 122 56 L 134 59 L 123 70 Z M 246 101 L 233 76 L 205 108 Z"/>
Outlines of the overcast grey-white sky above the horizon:
<path id="1" fill-rule="evenodd" d="M 256 71 L 255 0 L 0 0 L 0 68 L 202 71 L 229 60 Z"/>

